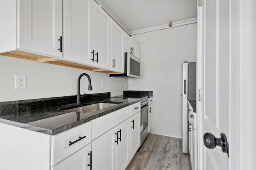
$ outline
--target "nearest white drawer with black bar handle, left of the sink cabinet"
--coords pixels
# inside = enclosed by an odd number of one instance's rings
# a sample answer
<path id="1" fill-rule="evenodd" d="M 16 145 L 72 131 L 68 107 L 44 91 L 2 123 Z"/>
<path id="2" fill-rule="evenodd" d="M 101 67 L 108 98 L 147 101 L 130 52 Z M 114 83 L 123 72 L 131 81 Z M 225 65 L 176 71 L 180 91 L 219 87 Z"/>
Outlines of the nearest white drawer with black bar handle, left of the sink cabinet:
<path id="1" fill-rule="evenodd" d="M 52 136 L 51 166 L 91 142 L 92 122 Z"/>

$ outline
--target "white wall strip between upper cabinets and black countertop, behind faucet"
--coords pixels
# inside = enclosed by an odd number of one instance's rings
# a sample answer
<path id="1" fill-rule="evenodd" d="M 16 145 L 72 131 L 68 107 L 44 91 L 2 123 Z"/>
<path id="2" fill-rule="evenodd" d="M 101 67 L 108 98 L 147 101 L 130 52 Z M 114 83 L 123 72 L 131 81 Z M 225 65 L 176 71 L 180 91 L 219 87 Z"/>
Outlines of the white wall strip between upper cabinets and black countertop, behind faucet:
<path id="1" fill-rule="evenodd" d="M 111 92 L 111 96 L 117 96 L 128 90 L 125 88 L 127 79 L 110 78 L 109 74 L 0 55 L 0 102 L 76 95 L 78 76 L 82 73 L 91 77 L 92 91 L 88 91 L 88 79 L 83 76 L 81 94 Z M 27 89 L 14 89 L 15 74 L 27 76 Z"/>

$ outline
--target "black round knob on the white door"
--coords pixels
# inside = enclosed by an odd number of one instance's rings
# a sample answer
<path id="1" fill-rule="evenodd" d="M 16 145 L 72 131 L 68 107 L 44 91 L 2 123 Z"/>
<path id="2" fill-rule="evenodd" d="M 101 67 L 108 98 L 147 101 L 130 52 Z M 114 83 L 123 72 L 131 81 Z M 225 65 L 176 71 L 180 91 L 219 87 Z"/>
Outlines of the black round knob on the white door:
<path id="1" fill-rule="evenodd" d="M 208 149 L 219 146 L 222 152 L 228 153 L 228 140 L 224 133 L 220 134 L 220 138 L 216 138 L 212 133 L 204 133 L 204 146 Z"/>

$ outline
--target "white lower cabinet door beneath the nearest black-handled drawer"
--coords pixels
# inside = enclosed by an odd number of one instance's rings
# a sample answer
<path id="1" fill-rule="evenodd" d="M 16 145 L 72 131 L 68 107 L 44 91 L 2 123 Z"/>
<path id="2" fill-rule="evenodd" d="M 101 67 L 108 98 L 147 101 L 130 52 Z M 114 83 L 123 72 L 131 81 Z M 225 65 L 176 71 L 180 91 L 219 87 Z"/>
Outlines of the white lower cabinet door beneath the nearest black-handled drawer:
<path id="1" fill-rule="evenodd" d="M 90 170 L 91 144 L 86 145 L 59 164 L 52 166 L 52 170 Z"/>

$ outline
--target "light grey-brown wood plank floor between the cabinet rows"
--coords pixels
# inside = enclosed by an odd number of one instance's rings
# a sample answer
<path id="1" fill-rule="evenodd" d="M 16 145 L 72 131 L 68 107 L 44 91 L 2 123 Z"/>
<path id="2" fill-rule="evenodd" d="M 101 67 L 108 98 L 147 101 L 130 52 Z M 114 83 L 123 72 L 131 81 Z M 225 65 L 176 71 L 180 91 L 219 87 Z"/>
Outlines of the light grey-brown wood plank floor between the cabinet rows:
<path id="1" fill-rule="evenodd" d="M 191 164 L 181 139 L 149 133 L 126 170 L 191 170 Z"/>

